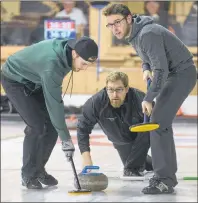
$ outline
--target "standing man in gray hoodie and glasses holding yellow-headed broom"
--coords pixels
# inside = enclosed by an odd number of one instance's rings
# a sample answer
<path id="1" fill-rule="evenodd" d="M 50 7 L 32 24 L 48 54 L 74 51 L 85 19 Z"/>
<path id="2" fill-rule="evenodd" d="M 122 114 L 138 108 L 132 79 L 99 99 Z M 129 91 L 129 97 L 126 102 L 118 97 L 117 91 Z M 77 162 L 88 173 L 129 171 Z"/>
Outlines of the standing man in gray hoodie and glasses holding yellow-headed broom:
<path id="1" fill-rule="evenodd" d="M 132 16 L 123 4 L 111 4 L 104 10 L 104 15 L 106 27 L 118 39 L 125 38 L 142 59 L 143 79 L 152 80 L 142 110 L 151 115 L 151 122 L 159 123 L 160 128 L 150 133 L 155 175 L 142 192 L 173 193 L 178 182 L 172 123 L 196 84 L 193 55 L 174 34 L 153 23 L 151 17 Z M 154 98 L 156 104 L 152 109 Z"/>

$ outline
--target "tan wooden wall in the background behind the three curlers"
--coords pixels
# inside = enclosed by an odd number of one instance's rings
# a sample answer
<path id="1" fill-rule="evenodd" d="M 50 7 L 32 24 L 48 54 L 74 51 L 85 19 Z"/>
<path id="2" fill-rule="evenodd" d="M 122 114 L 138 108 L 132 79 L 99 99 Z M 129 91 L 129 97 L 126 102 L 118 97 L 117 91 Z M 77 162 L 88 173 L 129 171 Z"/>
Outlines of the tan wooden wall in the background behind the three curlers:
<path id="1" fill-rule="evenodd" d="M 130 2 L 129 2 L 130 3 Z M 136 4 L 137 5 L 136 5 Z M 133 2 L 133 5 L 138 6 L 142 2 Z M 178 2 L 177 2 L 178 3 Z M 187 4 L 186 4 L 187 5 Z M 188 4 L 189 5 L 189 4 Z M 98 11 L 94 8 L 90 8 L 90 36 L 98 42 Z M 76 94 L 93 94 L 99 89 L 105 86 L 105 79 L 109 71 L 120 70 L 129 75 L 130 85 L 145 91 L 145 84 L 142 81 L 142 69 L 141 60 L 139 57 L 131 57 L 130 54 L 135 51 L 130 46 L 126 47 L 114 47 L 112 46 L 111 32 L 104 26 L 106 24 L 106 18 L 101 16 L 101 30 L 100 30 L 100 60 L 101 69 L 99 80 L 96 79 L 96 66 L 89 68 L 87 71 L 82 71 L 74 74 L 73 93 Z M 24 47 L 1 47 L 1 63 L 6 58 Z M 197 47 L 191 47 L 190 50 L 193 53 L 197 53 Z M 194 61 L 198 66 L 197 57 L 194 57 Z M 66 76 L 63 82 L 63 91 L 65 90 L 69 76 Z M 71 86 L 68 91 L 70 92 Z M 197 86 L 191 92 L 193 95 L 197 95 Z"/>

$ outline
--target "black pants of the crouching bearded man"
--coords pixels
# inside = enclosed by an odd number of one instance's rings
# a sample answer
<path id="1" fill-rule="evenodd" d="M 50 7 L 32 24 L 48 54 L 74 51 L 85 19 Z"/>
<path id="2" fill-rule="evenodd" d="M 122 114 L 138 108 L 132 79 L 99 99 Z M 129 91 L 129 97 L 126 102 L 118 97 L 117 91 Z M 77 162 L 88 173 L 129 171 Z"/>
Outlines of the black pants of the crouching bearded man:
<path id="1" fill-rule="evenodd" d="M 150 148 L 150 133 L 138 133 L 136 139 L 129 144 L 113 144 L 124 165 L 124 169 L 136 170 L 145 166 L 152 170 L 152 161 L 147 156 Z"/>

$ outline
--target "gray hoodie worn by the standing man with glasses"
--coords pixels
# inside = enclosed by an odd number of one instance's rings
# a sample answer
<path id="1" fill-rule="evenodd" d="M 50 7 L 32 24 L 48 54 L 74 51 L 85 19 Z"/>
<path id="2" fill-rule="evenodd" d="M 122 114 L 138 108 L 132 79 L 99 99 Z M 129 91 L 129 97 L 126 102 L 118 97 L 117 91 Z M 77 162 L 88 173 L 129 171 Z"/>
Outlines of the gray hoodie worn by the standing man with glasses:
<path id="1" fill-rule="evenodd" d="M 136 50 L 146 66 L 154 73 L 151 86 L 144 98 L 152 102 L 159 94 L 168 74 L 184 70 L 193 64 L 193 55 L 183 42 L 149 16 L 133 18 L 132 30 L 127 41 Z"/>

